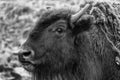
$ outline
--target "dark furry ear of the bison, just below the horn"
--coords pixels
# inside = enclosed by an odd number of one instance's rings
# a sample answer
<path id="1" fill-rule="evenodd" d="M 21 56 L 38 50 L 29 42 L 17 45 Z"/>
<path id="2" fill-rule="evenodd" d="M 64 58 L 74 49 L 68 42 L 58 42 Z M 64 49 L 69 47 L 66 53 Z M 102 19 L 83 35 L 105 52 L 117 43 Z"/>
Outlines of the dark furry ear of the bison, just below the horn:
<path id="1" fill-rule="evenodd" d="M 87 31 L 90 29 L 90 26 L 94 22 L 94 17 L 92 15 L 83 15 L 78 19 L 74 24 L 73 34 L 78 34 L 83 31 Z"/>

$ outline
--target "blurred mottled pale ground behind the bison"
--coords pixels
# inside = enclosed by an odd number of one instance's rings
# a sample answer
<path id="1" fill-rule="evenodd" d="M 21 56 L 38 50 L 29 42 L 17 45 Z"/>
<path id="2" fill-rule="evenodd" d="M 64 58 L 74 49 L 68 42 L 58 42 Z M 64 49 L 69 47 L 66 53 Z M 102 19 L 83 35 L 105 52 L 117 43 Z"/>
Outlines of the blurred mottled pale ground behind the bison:
<path id="1" fill-rule="evenodd" d="M 101 0 L 104 1 L 104 0 Z M 105 0 L 107 1 L 107 0 Z M 119 0 L 114 1 L 120 7 Z M 0 0 L 0 80 L 30 80 L 15 53 L 42 12 L 54 8 L 78 10 L 84 0 Z M 120 12 L 120 8 L 119 8 Z"/>

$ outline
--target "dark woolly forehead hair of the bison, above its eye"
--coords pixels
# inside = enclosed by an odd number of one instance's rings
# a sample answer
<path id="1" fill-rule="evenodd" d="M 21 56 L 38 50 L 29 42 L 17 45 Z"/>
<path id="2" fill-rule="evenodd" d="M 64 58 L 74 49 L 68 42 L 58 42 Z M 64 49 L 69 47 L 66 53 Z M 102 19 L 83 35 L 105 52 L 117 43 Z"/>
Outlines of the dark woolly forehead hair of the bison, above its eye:
<path id="1" fill-rule="evenodd" d="M 69 21 L 71 14 L 73 14 L 72 11 L 65 9 L 46 11 L 37 21 L 35 25 L 35 30 L 43 31 L 46 27 L 60 19 Z"/>

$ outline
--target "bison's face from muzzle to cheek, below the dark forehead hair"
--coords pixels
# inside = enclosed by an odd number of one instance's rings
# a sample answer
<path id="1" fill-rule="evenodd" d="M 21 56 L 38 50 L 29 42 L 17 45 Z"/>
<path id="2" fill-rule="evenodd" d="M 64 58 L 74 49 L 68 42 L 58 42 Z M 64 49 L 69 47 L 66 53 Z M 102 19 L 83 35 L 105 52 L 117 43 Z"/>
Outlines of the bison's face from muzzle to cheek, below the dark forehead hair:
<path id="1" fill-rule="evenodd" d="M 78 59 L 74 38 L 65 20 L 58 20 L 43 31 L 35 28 L 22 48 L 20 61 L 27 70 L 64 70 Z"/>

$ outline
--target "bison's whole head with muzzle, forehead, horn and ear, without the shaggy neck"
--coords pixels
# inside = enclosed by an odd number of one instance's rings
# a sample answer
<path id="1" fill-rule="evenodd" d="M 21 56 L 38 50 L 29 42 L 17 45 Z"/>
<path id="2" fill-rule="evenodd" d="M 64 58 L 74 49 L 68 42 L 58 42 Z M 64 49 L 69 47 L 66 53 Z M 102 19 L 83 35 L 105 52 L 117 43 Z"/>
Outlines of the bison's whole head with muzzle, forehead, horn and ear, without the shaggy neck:
<path id="1" fill-rule="evenodd" d="M 89 71 L 84 69 L 89 63 L 88 59 L 85 60 L 86 54 L 90 53 L 89 36 L 86 32 L 93 26 L 93 17 L 83 15 L 88 6 L 80 15 L 73 15 L 67 10 L 46 12 L 42 15 L 20 51 L 19 59 L 25 69 L 40 78 L 45 75 L 51 78 L 60 74 L 62 77 L 69 77 L 67 80 L 81 76 L 82 80 L 81 74 Z M 89 68 L 91 67 L 94 68 L 93 65 Z"/>

